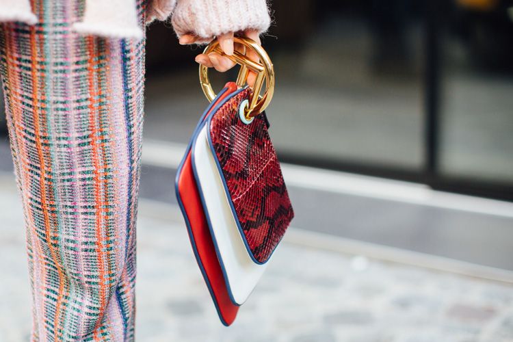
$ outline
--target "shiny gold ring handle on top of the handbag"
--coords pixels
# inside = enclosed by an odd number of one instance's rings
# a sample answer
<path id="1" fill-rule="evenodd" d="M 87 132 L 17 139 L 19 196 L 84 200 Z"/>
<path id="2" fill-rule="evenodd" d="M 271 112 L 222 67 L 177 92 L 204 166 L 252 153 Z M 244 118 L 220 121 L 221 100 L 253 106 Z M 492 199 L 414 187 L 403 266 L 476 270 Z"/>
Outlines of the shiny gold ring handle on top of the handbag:
<path id="1" fill-rule="evenodd" d="M 271 59 L 267 52 L 254 40 L 249 38 L 242 37 L 234 37 L 233 41 L 235 43 L 242 44 L 244 46 L 244 51 L 254 51 L 259 56 L 260 62 L 254 62 L 250 60 L 244 53 L 240 53 L 239 51 L 234 51 L 233 55 L 225 55 L 220 46 L 217 39 L 213 40 L 207 47 L 205 48 L 205 53 L 208 55 L 209 53 L 215 52 L 220 55 L 224 55 L 233 62 L 239 64 L 241 66 L 239 70 L 239 76 L 237 77 L 237 86 L 243 87 L 246 84 L 246 80 L 248 79 L 249 71 L 253 71 L 257 74 L 257 79 L 254 81 L 254 85 L 252 87 L 253 92 L 250 96 L 249 107 L 246 113 L 248 118 L 252 118 L 253 116 L 257 116 L 262 111 L 267 108 L 269 103 L 271 102 L 272 95 L 274 94 L 274 67 L 272 65 Z M 262 96 L 259 96 L 262 87 L 263 81 L 265 80 L 265 92 Z M 200 64 L 200 84 L 205 96 L 209 99 L 209 101 L 213 101 L 215 98 L 215 92 L 212 89 L 209 80 L 209 68 L 207 66 Z"/>

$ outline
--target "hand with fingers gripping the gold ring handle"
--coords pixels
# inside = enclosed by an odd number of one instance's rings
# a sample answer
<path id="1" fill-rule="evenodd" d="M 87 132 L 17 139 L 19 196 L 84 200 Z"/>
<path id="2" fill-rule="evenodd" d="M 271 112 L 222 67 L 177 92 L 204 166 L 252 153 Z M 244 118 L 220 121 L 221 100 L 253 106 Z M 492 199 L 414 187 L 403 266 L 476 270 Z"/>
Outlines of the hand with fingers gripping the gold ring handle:
<path id="1" fill-rule="evenodd" d="M 247 38 L 250 38 L 257 42 L 258 44 L 261 44 L 259 33 L 257 31 L 248 29 L 244 31 L 244 35 Z M 194 44 L 199 40 L 198 37 L 193 36 L 192 34 L 185 34 L 180 37 L 180 44 L 186 45 L 186 44 Z M 242 47 L 239 46 L 239 44 L 236 44 L 234 46 L 233 43 L 233 32 L 230 32 L 228 34 L 223 34 L 218 37 L 219 45 L 222 49 L 222 51 L 226 55 L 233 55 L 233 51 L 242 51 Z M 246 54 L 250 60 L 254 60 L 255 62 L 259 62 L 259 57 L 256 53 L 253 51 L 248 51 Z M 235 62 L 232 62 L 228 57 L 222 56 L 219 53 L 209 53 L 208 55 L 205 55 L 205 53 L 200 53 L 195 58 L 196 62 L 199 64 L 202 64 L 204 66 L 207 66 L 209 68 L 215 68 L 215 70 L 218 70 L 220 73 L 224 73 L 226 70 L 230 70 L 235 66 Z M 248 85 L 253 86 L 254 80 L 256 79 L 257 75 L 250 71 L 248 74 Z"/>

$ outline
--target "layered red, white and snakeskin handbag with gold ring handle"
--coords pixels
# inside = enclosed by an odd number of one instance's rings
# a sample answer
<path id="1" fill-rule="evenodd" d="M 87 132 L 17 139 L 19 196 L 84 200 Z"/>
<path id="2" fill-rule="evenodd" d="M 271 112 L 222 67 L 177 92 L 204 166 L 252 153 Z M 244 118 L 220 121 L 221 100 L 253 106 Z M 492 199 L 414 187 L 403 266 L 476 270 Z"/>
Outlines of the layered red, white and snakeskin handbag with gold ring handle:
<path id="1" fill-rule="evenodd" d="M 239 52 L 228 56 L 241 70 L 237 83 L 227 83 L 217 96 L 208 69 L 200 66 L 211 104 L 194 130 L 175 186 L 196 261 L 226 326 L 257 286 L 294 215 L 264 112 L 274 90 L 272 64 L 252 40 L 235 42 L 262 62 Z M 205 49 L 212 51 L 221 53 L 218 42 Z M 253 88 L 244 86 L 249 70 L 257 73 Z"/>

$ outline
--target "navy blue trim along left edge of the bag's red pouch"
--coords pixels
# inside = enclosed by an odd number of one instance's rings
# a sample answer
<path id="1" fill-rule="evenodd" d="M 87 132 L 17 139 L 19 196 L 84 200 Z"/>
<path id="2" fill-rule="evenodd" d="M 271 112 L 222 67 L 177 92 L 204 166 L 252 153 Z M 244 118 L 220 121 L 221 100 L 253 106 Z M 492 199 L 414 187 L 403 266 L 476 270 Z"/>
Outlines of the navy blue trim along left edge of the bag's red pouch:
<path id="1" fill-rule="evenodd" d="M 189 141 L 189 144 L 187 145 L 187 148 L 185 150 L 185 154 L 183 155 L 182 161 L 180 162 L 180 165 L 179 165 L 178 170 L 176 172 L 176 178 L 175 178 L 175 181 L 174 181 L 174 191 L 175 191 L 175 194 L 176 194 L 176 200 L 178 201 L 179 207 L 180 207 L 180 209 L 182 211 L 182 214 L 183 214 L 183 218 L 185 220 L 185 225 L 187 226 L 187 233 L 189 235 L 189 240 L 191 242 L 192 251 L 194 252 L 194 257 L 196 257 L 196 262 L 198 263 L 198 267 L 200 267 L 200 271 L 201 271 L 201 274 L 203 276 L 203 280 L 205 280 L 205 284 L 207 285 L 207 288 L 209 289 L 209 293 L 210 293 L 212 301 L 214 303 L 215 310 L 218 312 L 219 319 L 221 320 L 221 323 L 224 326 L 228 326 L 228 323 L 226 323 L 226 321 L 223 319 L 223 317 L 221 315 L 221 311 L 220 311 L 220 308 L 218 306 L 218 302 L 215 300 L 215 295 L 213 293 L 213 289 L 212 289 L 211 283 L 210 283 L 209 278 L 207 276 L 207 272 L 205 272 L 205 268 L 203 267 L 203 264 L 201 262 L 200 256 L 198 254 L 198 248 L 196 246 L 196 242 L 194 241 L 194 235 L 192 234 L 192 228 L 191 228 L 191 225 L 190 225 L 190 222 L 189 222 L 189 218 L 187 218 L 187 213 L 185 212 L 185 207 L 183 207 L 183 202 L 182 202 L 182 199 L 180 197 L 178 182 L 179 182 L 180 175 L 181 175 L 181 172 L 182 172 L 183 164 L 185 163 L 185 160 L 187 159 L 187 155 L 189 154 L 189 152 L 191 150 L 193 141 L 196 139 L 196 136 L 198 135 L 198 131 L 199 131 L 200 127 L 202 127 L 202 124 L 204 123 L 205 117 L 207 116 L 207 114 L 209 114 L 209 111 L 211 111 L 211 109 L 213 109 L 213 105 L 214 105 L 214 103 L 216 101 L 218 101 L 218 98 L 220 98 L 222 95 L 224 95 L 224 93 L 227 90 L 228 90 L 228 88 L 222 89 L 219 92 L 218 96 L 211 102 L 211 104 L 203 112 L 203 114 L 202 114 L 202 116 L 201 116 L 201 118 L 200 118 L 200 120 L 198 122 L 198 125 L 196 126 L 196 129 L 194 129 L 194 133 L 193 133 L 193 135 L 191 137 L 191 140 Z M 233 92 L 232 94 L 226 96 L 226 98 L 224 98 L 223 101 L 221 101 L 218 105 L 215 106 L 215 109 L 213 110 L 213 112 L 217 111 L 222 105 L 224 105 L 224 103 L 226 103 L 226 101 L 228 101 L 230 98 L 233 98 L 233 96 L 235 96 L 239 92 L 240 92 L 240 90 L 237 90 L 237 91 Z M 214 246 L 215 246 L 215 244 L 214 244 Z M 225 280 L 226 280 L 226 278 L 225 278 Z M 228 293 L 229 293 L 229 291 L 228 291 Z"/>

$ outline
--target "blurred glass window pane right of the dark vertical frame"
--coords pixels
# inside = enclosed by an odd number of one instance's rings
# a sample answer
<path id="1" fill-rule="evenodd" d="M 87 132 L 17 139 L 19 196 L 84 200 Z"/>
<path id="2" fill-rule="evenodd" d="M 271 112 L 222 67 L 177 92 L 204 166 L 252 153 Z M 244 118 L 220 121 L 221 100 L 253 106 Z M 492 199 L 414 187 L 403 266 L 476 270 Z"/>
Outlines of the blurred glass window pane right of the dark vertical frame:
<path id="1" fill-rule="evenodd" d="M 442 40 L 440 171 L 513 183 L 513 10 L 456 1 Z"/>

